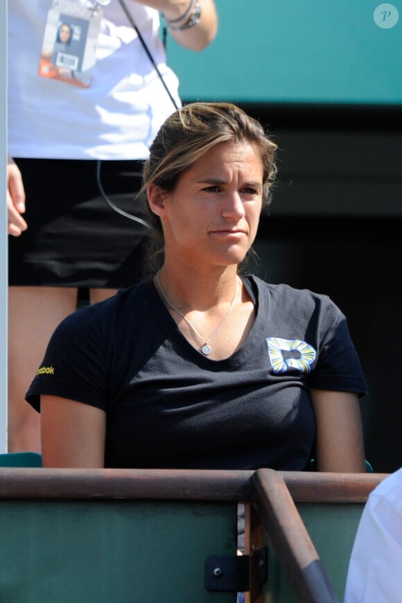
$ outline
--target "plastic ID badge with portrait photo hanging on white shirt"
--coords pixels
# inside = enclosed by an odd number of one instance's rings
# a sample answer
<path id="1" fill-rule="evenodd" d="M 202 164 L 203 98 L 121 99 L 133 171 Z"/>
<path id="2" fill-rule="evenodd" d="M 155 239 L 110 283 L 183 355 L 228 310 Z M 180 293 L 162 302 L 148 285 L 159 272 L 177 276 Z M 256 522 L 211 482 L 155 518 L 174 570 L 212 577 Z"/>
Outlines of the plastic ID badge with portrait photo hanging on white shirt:
<path id="1" fill-rule="evenodd" d="M 39 75 L 89 88 L 96 63 L 96 45 L 103 10 L 110 0 L 83 6 L 73 0 L 53 0 L 48 12 Z"/>

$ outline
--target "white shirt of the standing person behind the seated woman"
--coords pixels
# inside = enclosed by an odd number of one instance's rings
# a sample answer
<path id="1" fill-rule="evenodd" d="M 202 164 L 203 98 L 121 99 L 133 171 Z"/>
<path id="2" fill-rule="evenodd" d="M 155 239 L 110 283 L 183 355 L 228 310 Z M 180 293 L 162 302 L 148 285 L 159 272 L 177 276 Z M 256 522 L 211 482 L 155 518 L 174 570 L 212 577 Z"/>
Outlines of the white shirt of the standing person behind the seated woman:
<path id="1" fill-rule="evenodd" d="M 81 1 L 81 0 L 77 0 Z M 84 0 L 82 0 L 84 1 Z M 125 0 L 166 85 L 159 13 Z M 8 153 L 36 159 L 146 159 L 175 107 L 119 2 L 105 7 L 89 89 L 38 75 L 51 0 L 8 1 Z"/>

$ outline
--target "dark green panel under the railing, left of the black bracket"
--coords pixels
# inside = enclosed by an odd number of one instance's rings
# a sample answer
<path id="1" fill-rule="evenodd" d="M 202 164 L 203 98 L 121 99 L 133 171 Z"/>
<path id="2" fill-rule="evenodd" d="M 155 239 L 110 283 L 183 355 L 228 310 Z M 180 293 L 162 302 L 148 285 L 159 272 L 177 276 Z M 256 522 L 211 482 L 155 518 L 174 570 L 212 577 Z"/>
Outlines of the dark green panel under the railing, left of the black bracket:
<path id="1" fill-rule="evenodd" d="M 204 588 L 210 554 L 236 554 L 236 505 L 0 501 L 0 601 L 234 603 Z"/>

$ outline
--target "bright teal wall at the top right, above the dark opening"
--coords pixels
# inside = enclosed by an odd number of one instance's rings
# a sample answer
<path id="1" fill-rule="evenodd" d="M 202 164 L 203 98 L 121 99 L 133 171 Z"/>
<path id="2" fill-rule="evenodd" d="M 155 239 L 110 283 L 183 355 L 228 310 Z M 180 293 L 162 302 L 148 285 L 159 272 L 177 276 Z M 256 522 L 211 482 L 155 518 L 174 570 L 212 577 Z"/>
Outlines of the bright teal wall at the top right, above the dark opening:
<path id="1" fill-rule="evenodd" d="M 402 104 L 399 21 L 381 28 L 372 0 L 217 0 L 219 31 L 201 53 L 168 35 L 184 100 Z"/>

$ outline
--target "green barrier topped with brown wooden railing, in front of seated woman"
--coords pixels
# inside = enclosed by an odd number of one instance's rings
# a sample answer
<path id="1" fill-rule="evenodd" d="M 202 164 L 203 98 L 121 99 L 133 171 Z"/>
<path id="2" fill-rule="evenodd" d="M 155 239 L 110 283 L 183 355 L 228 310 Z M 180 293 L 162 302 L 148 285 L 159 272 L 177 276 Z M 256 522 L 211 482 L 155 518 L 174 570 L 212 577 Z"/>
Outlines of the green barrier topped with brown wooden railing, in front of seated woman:
<path id="1" fill-rule="evenodd" d="M 246 568 L 250 603 L 333 603 L 362 507 L 384 477 L 1 468 L 0 600 L 229 603 L 230 572 Z M 241 561 L 238 502 L 248 519 Z M 338 521 L 349 522 L 349 540 Z M 315 534 L 322 523 L 324 546 Z"/>

